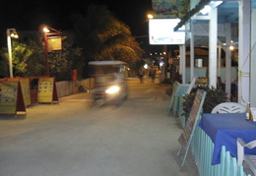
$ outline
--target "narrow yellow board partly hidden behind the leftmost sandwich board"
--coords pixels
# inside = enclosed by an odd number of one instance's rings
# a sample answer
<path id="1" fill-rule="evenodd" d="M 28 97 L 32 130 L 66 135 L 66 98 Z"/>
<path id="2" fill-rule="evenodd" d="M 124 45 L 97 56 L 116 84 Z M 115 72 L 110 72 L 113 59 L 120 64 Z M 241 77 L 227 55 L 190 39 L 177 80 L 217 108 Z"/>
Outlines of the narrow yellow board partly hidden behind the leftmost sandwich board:
<path id="1" fill-rule="evenodd" d="M 32 104 L 32 99 L 31 99 L 31 86 L 30 86 L 30 79 L 20 79 L 20 84 L 22 87 L 22 92 L 23 92 L 23 98 L 24 98 L 24 103 L 26 106 Z"/>

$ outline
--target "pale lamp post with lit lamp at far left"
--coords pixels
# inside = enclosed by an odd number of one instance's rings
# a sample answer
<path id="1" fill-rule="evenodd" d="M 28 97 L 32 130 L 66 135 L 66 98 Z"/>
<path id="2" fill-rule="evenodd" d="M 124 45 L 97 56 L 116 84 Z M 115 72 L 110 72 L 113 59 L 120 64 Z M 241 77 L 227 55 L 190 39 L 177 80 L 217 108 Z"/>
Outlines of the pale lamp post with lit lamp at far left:
<path id="1" fill-rule="evenodd" d="M 13 74 L 13 58 L 12 58 L 12 41 L 11 37 L 18 38 L 18 34 L 16 29 L 7 29 L 7 48 L 8 48 L 8 56 L 9 56 L 9 71 L 10 71 L 10 78 L 14 78 Z"/>

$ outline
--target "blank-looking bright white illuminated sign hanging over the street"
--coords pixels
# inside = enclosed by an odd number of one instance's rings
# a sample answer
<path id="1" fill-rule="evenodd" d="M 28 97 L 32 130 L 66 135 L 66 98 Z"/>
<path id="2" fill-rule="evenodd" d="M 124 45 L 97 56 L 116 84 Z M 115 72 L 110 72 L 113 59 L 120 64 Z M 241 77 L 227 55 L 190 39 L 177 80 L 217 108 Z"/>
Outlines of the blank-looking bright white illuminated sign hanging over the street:
<path id="1" fill-rule="evenodd" d="M 184 44 L 185 31 L 173 31 L 179 19 L 152 19 L 149 23 L 150 44 Z M 183 26 L 180 28 L 184 30 Z"/>

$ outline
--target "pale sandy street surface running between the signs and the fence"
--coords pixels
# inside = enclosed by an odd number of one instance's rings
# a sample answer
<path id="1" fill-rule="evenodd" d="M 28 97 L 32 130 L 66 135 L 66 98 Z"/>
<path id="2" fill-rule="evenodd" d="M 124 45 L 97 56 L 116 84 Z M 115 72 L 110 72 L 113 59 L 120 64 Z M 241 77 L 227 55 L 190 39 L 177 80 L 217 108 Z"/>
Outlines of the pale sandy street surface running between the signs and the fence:
<path id="1" fill-rule="evenodd" d="M 197 176 L 190 154 L 184 167 L 176 156 L 182 130 L 166 115 L 166 88 L 135 79 L 118 108 L 90 108 L 82 92 L 0 116 L 0 175 Z"/>

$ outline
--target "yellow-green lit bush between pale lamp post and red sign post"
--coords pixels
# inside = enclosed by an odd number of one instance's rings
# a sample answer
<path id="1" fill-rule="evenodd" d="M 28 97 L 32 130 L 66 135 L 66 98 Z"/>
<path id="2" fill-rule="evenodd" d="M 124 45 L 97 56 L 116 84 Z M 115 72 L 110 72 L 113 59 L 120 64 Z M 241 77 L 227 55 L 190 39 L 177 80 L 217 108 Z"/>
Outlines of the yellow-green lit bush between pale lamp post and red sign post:
<path id="1" fill-rule="evenodd" d="M 44 50 L 41 34 L 36 31 L 19 32 L 19 39 L 12 39 L 14 77 L 43 76 L 45 70 Z M 9 77 L 7 48 L 0 51 L 1 77 Z M 2 70 L 3 69 L 3 70 Z"/>

